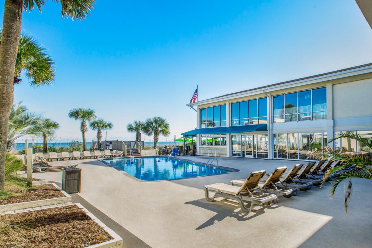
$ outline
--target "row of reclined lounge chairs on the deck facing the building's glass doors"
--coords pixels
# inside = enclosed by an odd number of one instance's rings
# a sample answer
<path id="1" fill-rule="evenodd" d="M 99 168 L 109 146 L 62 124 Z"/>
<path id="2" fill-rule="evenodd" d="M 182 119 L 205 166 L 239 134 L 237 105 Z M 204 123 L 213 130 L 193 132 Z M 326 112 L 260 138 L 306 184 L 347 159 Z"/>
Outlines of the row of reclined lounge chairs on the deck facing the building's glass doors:
<path id="1" fill-rule="evenodd" d="M 236 200 L 241 210 L 249 213 L 254 204 L 269 206 L 278 202 L 279 196 L 291 197 L 295 196 L 298 190 L 306 191 L 312 186 L 319 186 L 323 181 L 325 171 L 341 163 L 340 161 L 320 160 L 309 162 L 305 167 L 303 164 L 296 164 L 286 174 L 287 167 L 278 167 L 271 174 L 266 174 L 264 170 L 254 171 L 247 178 L 232 180 L 229 184 L 205 185 L 205 199 L 209 202 L 213 202 L 215 197 Z M 265 174 L 267 178 L 263 180 Z M 215 191 L 213 197 L 209 196 L 210 190 Z M 245 204 L 246 202 L 250 205 Z"/>

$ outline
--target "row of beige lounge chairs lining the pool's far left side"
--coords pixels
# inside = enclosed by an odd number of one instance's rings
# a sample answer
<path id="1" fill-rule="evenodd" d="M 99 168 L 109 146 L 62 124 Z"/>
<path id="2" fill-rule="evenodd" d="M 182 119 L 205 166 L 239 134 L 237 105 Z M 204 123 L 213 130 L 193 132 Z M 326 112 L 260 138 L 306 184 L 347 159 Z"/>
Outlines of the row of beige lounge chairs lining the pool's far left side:
<path id="1" fill-rule="evenodd" d="M 57 152 L 49 152 L 49 154 L 43 154 L 42 152 L 35 152 L 35 161 L 37 161 L 37 158 L 44 158 L 47 161 L 53 161 L 53 160 L 76 160 L 76 159 L 87 159 L 87 158 L 111 158 L 111 157 L 122 157 L 124 155 L 123 151 L 113 150 L 110 151 L 106 149 L 105 151 L 83 151 L 78 152 L 74 151 L 72 153 L 70 152 L 61 152 L 60 154 L 57 154 Z"/>

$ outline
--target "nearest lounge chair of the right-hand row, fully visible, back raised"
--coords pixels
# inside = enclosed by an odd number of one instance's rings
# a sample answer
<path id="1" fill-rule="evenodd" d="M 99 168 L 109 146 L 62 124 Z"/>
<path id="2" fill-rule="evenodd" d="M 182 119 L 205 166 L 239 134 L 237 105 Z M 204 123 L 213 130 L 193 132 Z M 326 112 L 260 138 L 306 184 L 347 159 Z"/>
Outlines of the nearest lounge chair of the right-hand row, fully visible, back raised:
<path id="1" fill-rule="evenodd" d="M 264 176 L 266 171 L 254 171 L 248 175 L 247 179 L 241 187 L 232 186 L 225 183 L 215 183 L 204 186 L 205 199 L 208 202 L 213 202 L 215 197 L 224 197 L 225 199 L 236 200 L 243 212 L 251 212 L 254 204 L 264 204 L 269 206 L 271 203 L 276 202 L 275 194 L 268 194 L 263 192 L 258 183 Z M 213 197 L 209 197 L 209 190 L 217 191 Z M 244 202 L 250 202 L 247 207 Z"/>

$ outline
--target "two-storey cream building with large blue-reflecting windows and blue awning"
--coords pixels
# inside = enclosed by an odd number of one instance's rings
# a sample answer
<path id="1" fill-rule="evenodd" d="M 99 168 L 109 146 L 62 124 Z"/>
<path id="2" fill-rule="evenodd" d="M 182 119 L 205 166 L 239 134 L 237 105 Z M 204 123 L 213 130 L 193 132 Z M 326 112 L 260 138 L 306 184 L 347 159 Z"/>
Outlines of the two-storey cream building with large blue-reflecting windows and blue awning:
<path id="1" fill-rule="evenodd" d="M 187 104 L 197 155 L 305 160 L 340 132 L 372 137 L 372 63 Z M 349 154 L 355 140 L 328 144 Z"/>

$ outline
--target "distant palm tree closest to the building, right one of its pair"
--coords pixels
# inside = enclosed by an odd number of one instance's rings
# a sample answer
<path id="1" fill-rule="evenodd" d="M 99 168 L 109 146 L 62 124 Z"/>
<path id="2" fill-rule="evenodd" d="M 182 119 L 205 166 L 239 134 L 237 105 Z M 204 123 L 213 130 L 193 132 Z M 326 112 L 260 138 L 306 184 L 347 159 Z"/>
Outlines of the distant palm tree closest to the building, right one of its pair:
<path id="1" fill-rule="evenodd" d="M 169 123 L 166 119 L 159 116 L 148 118 L 144 123 L 143 132 L 148 136 L 154 135 L 154 149 L 156 149 L 158 146 L 159 135 L 165 137 L 169 135 Z"/>

